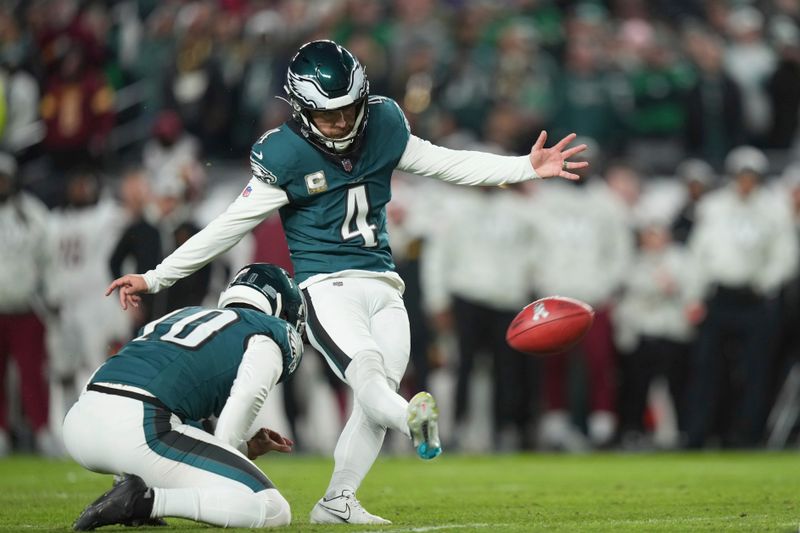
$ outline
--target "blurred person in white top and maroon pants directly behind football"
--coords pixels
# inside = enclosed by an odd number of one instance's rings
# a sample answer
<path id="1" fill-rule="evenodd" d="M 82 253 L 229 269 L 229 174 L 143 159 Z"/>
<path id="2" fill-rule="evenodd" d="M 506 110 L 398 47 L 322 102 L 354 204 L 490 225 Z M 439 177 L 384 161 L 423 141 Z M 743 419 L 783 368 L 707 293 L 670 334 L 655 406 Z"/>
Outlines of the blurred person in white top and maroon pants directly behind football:
<path id="1" fill-rule="evenodd" d="M 617 362 L 611 310 L 633 255 L 629 209 L 602 178 L 558 182 L 541 187 L 530 216 L 538 230 L 534 265 L 538 296 L 559 294 L 595 309 L 586 337 L 568 353 L 544 361 L 545 413 L 541 440 L 547 448 L 581 451 L 587 447 L 570 424 L 571 359 L 585 359 L 588 391 L 588 436 L 607 446 L 617 429 Z"/>

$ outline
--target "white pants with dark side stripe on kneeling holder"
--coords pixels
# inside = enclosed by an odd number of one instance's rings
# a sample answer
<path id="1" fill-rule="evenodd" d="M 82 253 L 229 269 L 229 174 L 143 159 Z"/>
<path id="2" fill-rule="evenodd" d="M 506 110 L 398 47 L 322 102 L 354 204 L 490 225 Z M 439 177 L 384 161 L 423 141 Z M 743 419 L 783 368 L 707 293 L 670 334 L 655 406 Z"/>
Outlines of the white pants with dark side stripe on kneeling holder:
<path id="1" fill-rule="evenodd" d="M 64 419 L 64 444 L 89 470 L 141 477 L 153 487 L 152 517 L 249 528 L 291 522 L 289 503 L 252 461 L 155 405 L 85 391 Z"/>

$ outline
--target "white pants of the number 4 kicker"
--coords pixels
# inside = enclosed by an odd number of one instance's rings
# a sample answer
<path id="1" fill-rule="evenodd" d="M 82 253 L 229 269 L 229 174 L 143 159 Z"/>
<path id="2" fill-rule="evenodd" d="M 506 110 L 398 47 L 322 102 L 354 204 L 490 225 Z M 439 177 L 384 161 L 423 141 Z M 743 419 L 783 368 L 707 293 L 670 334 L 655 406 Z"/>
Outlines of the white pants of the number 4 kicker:
<path id="1" fill-rule="evenodd" d="M 386 429 L 408 435 L 408 402 L 397 394 L 411 349 L 402 289 L 380 278 L 340 277 L 309 285 L 304 294 L 309 341 L 355 395 L 328 491 L 355 492 Z"/>

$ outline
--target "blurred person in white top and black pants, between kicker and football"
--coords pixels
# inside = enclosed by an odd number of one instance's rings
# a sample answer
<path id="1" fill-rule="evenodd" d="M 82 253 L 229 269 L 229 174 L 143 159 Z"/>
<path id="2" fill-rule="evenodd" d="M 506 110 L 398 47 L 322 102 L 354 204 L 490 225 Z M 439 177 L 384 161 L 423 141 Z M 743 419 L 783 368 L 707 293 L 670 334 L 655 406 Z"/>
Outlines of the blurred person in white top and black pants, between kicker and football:
<path id="1" fill-rule="evenodd" d="M 498 451 L 529 448 L 537 361 L 506 342 L 508 325 L 533 292 L 529 198 L 496 187 L 442 192 L 448 216 L 429 240 L 422 264 L 427 308 L 438 328 L 454 330 L 458 344 L 453 440 L 469 449 L 470 384 L 485 353 L 493 381 L 492 445 Z"/>

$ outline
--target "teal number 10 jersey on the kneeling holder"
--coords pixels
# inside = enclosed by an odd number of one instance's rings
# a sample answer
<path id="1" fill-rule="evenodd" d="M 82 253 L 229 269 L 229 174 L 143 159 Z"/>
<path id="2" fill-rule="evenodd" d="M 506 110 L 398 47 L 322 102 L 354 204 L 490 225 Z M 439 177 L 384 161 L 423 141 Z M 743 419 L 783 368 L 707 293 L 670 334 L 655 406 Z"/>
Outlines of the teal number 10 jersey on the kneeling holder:
<path id="1" fill-rule="evenodd" d="M 281 380 L 294 372 L 303 350 L 291 325 L 252 309 L 186 307 L 140 333 L 91 382 L 144 389 L 184 420 L 219 416 L 251 336 L 266 335 L 280 347 Z"/>

